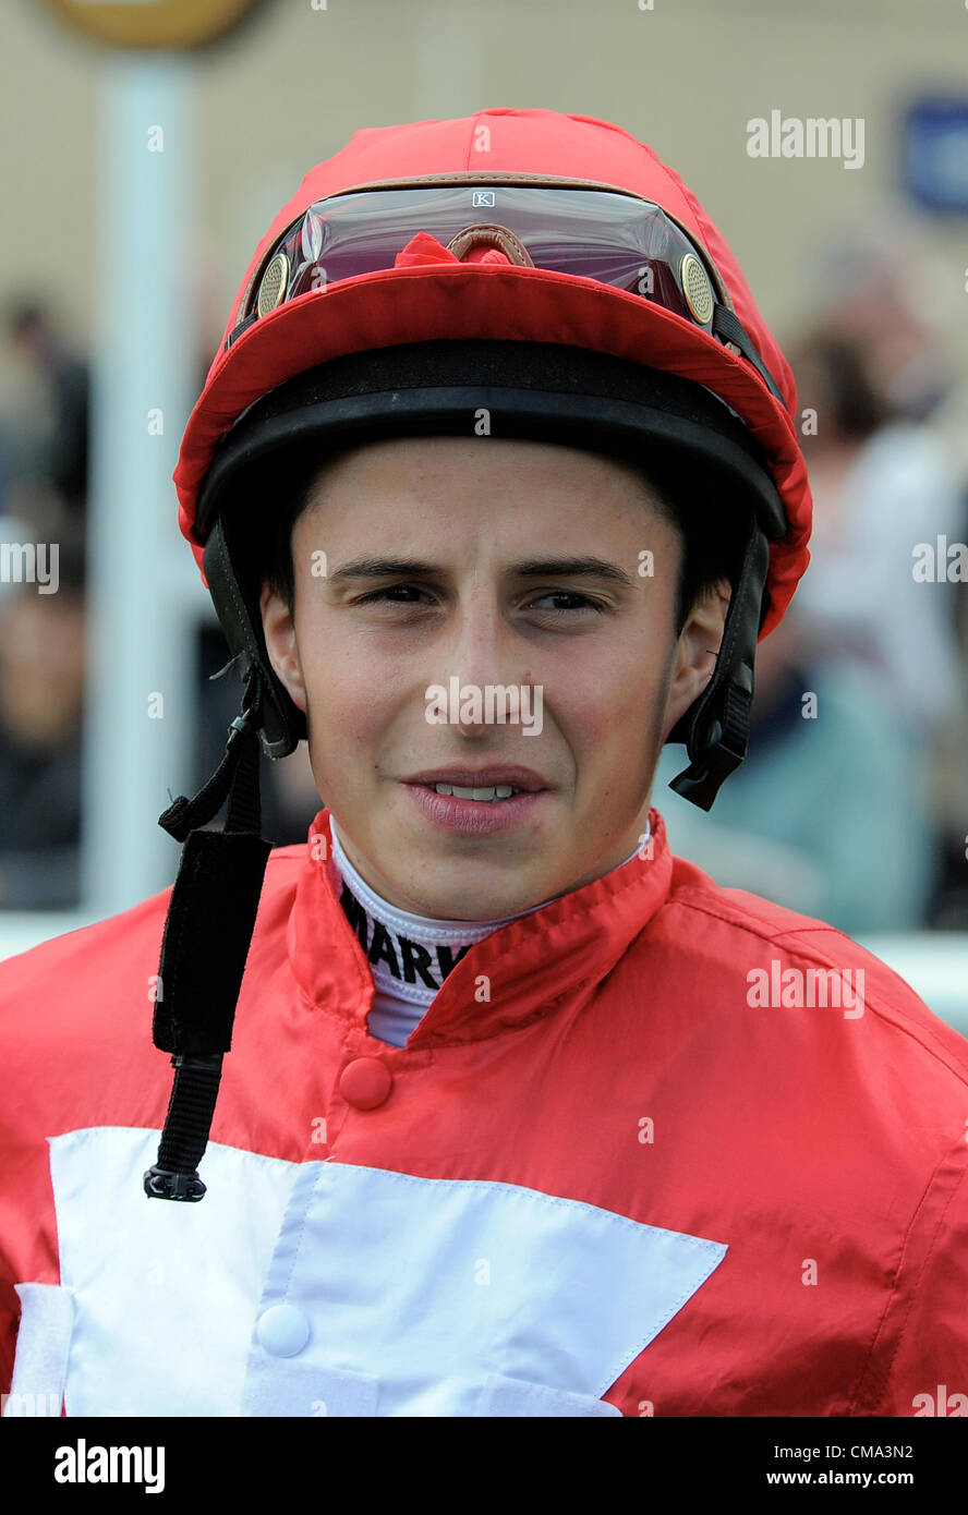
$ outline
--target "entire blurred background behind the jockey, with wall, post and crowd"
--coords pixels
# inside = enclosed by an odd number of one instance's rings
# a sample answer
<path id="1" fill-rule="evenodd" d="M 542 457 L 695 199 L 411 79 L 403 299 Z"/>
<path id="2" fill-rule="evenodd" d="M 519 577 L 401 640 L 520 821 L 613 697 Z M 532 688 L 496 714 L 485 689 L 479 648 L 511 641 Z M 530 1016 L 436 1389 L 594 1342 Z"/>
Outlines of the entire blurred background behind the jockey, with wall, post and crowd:
<path id="1" fill-rule="evenodd" d="M 247 14 L 201 47 L 80 30 L 133 12 L 194 42 Z M 8 0 L 0 956 L 173 882 L 158 815 L 238 711 L 171 473 L 279 206 L 361 127 L 547 106 L 683 176 L 798 383 L 812 565 L 709 815 L 665 750 L 673 850 L 841 927 L 968 1032 L 966 59 L 953 0 Z M 863 150 L 750 156 L 773 111 L 862 120 Z M 306 745 L 262 764 L 264 835 L 304 841 Z"/>

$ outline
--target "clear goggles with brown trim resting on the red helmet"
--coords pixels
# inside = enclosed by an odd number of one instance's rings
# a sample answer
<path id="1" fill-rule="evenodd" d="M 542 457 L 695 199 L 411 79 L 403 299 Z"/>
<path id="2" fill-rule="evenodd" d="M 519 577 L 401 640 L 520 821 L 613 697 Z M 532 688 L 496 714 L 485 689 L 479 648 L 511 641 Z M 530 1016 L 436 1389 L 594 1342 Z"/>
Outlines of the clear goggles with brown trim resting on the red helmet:
<path id="1" fill-rule="evenodd" d="M 526 176 L 521 176 L 526 177 Z M 511 262 L 595 279 L 660 305 L 739 351 L 786 406 L 704 248 L 651 200 L 621 189 L 512 174 L 433 176 L 317 200 L 270 248 L 226 345 L 253 321 L 312 289 L 395 268 L 418 233 L 441 261 Z M 414 248 L 414 262 L 433 258 Z M 495 251 L 494 251 L 495 250 Z M 403 256 L 400 256 L 403 255 Z"/>

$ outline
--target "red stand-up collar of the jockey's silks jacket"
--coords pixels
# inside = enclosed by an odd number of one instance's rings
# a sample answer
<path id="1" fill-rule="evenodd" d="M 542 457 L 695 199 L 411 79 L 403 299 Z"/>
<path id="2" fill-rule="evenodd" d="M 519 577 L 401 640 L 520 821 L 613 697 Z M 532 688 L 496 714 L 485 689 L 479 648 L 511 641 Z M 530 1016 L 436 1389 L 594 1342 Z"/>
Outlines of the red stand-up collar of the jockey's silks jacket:
<path id="1" fill-rule="evenodd" d="M 323 809 L 309 827 L 289 914 L 289 962 L 311 1004 L 365 1032 L 373 974 L 326 867 L 329 820 Z M 651 857 L 636 854 L 476 942 L 444 980 L 406 1050 L 483 1041 L 547 1015 L 568 989 L 598 985 L 670 894 L 673 856 L 654 809 L 650 823 Z M 491 980 L 483 1003 L 476 997 L 480 974 Z"/>

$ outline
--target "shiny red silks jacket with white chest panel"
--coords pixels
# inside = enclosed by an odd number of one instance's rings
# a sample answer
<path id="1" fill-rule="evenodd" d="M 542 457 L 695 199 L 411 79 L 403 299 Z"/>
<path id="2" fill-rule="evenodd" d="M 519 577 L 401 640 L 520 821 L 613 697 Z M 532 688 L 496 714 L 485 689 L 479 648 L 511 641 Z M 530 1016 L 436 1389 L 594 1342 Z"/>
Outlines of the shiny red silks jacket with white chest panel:
<path id="1" fill-rule="evenodd" d="M 321 811 L 268 862 L 195 1204 L 142 1189 L 170 891 L 2 964 L 8 1413 L 965 1415 L 968 1042 L 651 826 L 397 1048 Z"/>

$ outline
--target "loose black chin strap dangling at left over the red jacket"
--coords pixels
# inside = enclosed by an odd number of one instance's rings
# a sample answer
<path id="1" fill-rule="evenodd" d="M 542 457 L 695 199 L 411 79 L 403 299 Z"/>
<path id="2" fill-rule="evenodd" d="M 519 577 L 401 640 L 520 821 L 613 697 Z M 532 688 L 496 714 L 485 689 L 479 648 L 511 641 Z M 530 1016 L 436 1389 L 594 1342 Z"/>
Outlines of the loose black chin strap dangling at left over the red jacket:
<path id="1" fill-rule="evenodd" d="M 158 1148 L 144 1176 L 153 1200 L 200 1200 L 197 1168 L 215 1114 L 221 1060 L 232 1045 L 235 1006 L 259 909 L 271 842 L 262 839 L 259 736 L 261 676 L 250 668 L 242 711 L 229 727 L 226 756 L 192 800 L 180 795 L 159 817 L 185 842 L 171 891 L 155 997 L 153 1039 L 171 1053 L 174 1085 Z M 229 798 L 223 830 L 200 830 Z"/>

